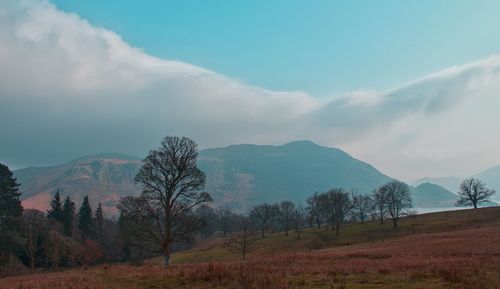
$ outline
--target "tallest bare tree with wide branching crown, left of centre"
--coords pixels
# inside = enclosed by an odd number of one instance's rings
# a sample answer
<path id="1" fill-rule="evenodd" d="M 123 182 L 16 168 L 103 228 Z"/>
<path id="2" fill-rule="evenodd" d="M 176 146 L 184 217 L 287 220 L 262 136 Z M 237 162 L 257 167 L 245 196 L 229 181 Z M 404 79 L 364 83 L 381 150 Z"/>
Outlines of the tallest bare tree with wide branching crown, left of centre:
<path id="1" fill-rule="evenodd" d="M 200 223 L 193 209 L 212 200 L 201 192 L 205 174 L 196 165 L 197 157 L 198 148 L 191 139 L 164 138 L 158 149 L 149 152 L 135 177 L 142 187 L 141 196 L 124 198 L 119 205 L 135 240 L 160 251 L 165 267 L 170 246 L 191 238 Z"/>

